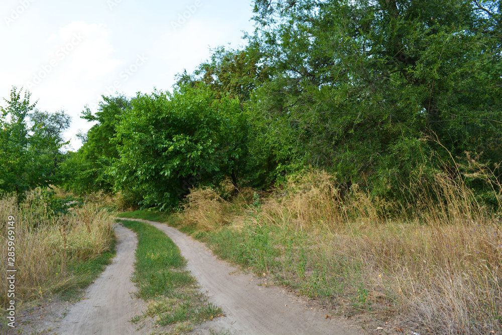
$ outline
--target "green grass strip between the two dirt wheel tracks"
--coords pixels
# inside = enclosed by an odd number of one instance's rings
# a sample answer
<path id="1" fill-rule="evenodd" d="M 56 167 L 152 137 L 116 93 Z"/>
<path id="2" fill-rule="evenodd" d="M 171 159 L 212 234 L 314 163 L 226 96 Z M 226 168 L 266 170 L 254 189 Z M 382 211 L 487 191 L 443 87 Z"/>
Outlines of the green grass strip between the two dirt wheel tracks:
<path id="1" fill-rule="evenodd" d="M 147 213 L 131 215 L 152 220 Z M 185 259 L 166 234 L 140 221 L 122 220 L 121 223 L 138 235 L 133 282 L 139 288 L 138 296 L 147 301 L 148 306 L 144 314 L 133 321 L 154 317 L 157 324 L 167 326 L 168 333 L 188 333 L 195 324 L 222 313 L 221 308 L 208 303 L 198 291 L 195 278 L 184 270 Z"/>

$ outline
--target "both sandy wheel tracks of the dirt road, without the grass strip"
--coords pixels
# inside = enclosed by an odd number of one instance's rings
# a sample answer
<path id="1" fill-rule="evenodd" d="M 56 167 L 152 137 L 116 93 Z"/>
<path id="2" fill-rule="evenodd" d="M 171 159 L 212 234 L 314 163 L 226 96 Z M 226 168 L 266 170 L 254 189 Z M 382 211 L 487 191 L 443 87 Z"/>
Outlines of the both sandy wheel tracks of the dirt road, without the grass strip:
<path id="1" fill-rule="evenodd" d="M 144 220 L 139 220 L 144 221 Z M 326 318 L 324 311 L 309 309 L 296 296 L 279 287 L 258 285 L 260 279 L 239 273 L 237 268 L 217 259 L 204 244 L 165 224 L 150 222 L 165 232 L 187 259 L 188 270 L 197 278 L 209 300 L 223 308 L 225 316 L 205 322 L 194 334 L 361 334 L 360 327 Z M 136 234 L 120 225 L 116 256 L 91 284 L 85 298 L 72 306 L 46 304 L 28 313 L 16 333 L 50 334 L 145 334 L 154 328 L 130 322 L 146 308 L 132 297 L 136 287 L 130 281 L 134 271 Z M 289 294 L 289 295 L 288 295 Z"/>

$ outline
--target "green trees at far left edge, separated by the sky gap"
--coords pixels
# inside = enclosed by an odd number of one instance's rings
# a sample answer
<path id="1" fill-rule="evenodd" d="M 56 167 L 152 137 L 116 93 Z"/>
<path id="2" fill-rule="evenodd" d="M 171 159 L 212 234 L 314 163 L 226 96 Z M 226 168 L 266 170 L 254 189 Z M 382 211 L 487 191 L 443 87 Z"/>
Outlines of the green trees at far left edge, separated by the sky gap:
<path id="1" fill-rule="evenodd" d="M 6 107 L 0 107 L 0 193 L 24 191 L 59 181 L 62 133 L 70 117 L 63 111 L 40 112 L 31 94 L 13 87 Z M 30 126 L 28 118 L 31 118 Z"/>

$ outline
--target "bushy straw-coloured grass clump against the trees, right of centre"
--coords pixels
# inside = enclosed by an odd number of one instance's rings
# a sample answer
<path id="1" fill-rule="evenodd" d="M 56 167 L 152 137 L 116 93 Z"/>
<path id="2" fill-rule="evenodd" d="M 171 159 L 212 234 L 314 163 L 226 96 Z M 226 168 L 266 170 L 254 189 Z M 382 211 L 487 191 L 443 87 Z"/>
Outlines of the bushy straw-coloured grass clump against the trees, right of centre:
<path id="1" fill-rule="evenodd" d="M 291 176 L 284 190 L 278 190 L 264 200 L 261 214 L 275 225 L 285 223 L 295 230 L 344 230 L 352 220 L 359 223 L 385 220 L 394 206 L 371 198 L 353 185 L 349 192 L 341 190 L 336 177 L 324 171 L 310 170 Z"/>

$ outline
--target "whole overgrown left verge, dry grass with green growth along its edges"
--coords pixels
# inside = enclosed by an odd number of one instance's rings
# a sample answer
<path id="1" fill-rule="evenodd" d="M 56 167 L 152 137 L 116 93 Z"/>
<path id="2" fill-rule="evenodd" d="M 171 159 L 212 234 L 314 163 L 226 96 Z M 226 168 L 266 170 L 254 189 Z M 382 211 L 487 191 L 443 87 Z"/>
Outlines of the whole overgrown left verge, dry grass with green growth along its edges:
<path id="1" fill-rule="evenodd" d="M 68 200 L 66 200 L 68 201 Z M 75 204 L 76 205 L 76 204 Z M 0 220 L 15 218 L 16 304 L 62 293 L 76 296 L 113 257 L 115 237 L 111 214 L 95 204 L 60 204 L 43 189 L 0 198 Z M 7 225 L 0 236 L 7 241 Z M 8 244 L 2 243 L 0 272 L 7 273 Z M 0 283 L 0 304 L 8 305 L 8 282 Z M 10 299 L 9 299 L 10 300 Z"/>

